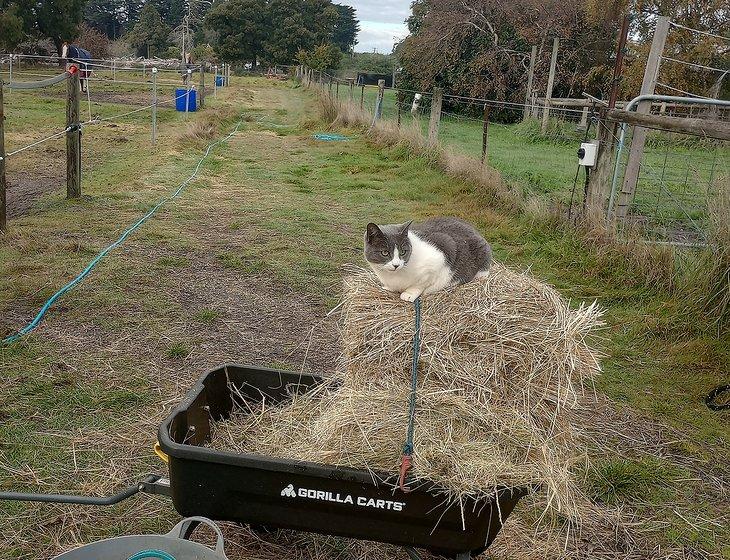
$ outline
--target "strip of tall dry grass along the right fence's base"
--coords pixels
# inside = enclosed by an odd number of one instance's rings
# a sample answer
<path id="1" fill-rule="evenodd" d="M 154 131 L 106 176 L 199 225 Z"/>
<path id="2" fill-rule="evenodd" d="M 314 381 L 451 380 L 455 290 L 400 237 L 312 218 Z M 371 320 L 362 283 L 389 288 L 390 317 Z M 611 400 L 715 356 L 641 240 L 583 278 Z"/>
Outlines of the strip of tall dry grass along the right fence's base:
<path id="1" fill-rule="evenodd" d="M 599 265 L 610 268 L 628 263 L 646 286 L 661 289 L 684 302 L 692 311 L 703 313 L 718 333 L 730 326 L 730 188 L 722 181 L 720 193 L 710 208 L 712 229 L 709 248 L 691 254 L 671 246 L 652 245 L 640 231 L 624 227 L 617 235 L 615 224 L 607 223 L 602 209 L 567 218 L 563 208 L 535 197 L 524 196 L 514 185 L 502 180 L 499 172 L 478 160 L 432 145 L 417 123 L 398 127 L 391 121 L 373 124 L 372 115 L 349 101 L 337 100 L 324 92 L 319 96 L 322 120 L 330 128 L 358 128 L 378 146 L 396 147 L 414 157 L 424 158 L 448 176 L 474 184 L 480 198 L 490 207 L 522 215 L 544 227 L 576 234 L 598 257 Z"/>

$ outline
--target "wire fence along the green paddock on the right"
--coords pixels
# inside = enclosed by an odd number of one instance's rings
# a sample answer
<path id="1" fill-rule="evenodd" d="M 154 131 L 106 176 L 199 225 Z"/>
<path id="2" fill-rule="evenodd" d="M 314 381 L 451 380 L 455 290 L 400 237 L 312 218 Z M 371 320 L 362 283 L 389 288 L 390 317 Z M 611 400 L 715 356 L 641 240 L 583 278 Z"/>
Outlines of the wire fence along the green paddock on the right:
<path id="1" fill-rule="evenodd" d="M 378 86 L 353 86 L 347 80 L 324 74 L 320 87 L 340 102 L 352 102 L 371 115 L 375 113 Z M 414 103 L 417 95 L 419 100 Z M 431 92 L 385 88 L 382 119 L 416 127 L 426 135 L 432 98 Z M 597 138 L 600 105 L 550 107 L 547 127 L 543 128 L 545 110 L 540 102 L 520 104 L 445 94 L 438 141 L 456 153 L 475 159 L 484 157 L 504 180 L 518 186 L 526 199 L 557 205 L 570 214 L 574 206 L 584 203 L 587 177 L 585 168 L 578 164 L 577 151 L 581 143 Z M 651 112 L 730 121 L 727 109 L 681 103 L 656 103 Z M 631 135 L 627 145 L 630 142 Z M 620 185 L 628 150 L 622 152 L 619 161 L 616 157 L 614 154 L 613 165 Z M 728 188 L 729 178 L 727 141 L 649 131 L 637 187 L 621 225 L 631 226 L 651 241 L 705 243 L 713 205 L 720 189 Z"/>

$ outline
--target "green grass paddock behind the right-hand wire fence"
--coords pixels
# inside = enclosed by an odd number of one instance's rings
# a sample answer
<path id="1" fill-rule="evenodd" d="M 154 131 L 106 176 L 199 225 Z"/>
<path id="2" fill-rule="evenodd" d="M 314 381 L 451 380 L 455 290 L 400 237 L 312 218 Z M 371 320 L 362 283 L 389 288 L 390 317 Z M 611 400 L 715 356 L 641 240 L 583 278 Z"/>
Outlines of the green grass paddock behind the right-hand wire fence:
<path id="1" fill-rule="evenodd" d="M 359 103 L 361 88 L 355 88 L 354 101 Z M 340 99 L 349 99 L 349 88 L 342 85 Z M 405 95 L 405 94 L 404 94 Z M 363 105 L 372 111 L 377 98 L 376 87 L 366 87 Z M 408 98 L 410 100 L 410 98 Z M 430 99 L 423 101 L 421 127 L 428 127 Z M 393 90 L 386 90 L 383 118 L 396 120 L 397 98 Z M 412 117 L 410 104 L 403 104 L 402 121 L 408 125 Z M 481 113 L 481 105 L 470 105 L 456 99 L 445 99 L 439 132 L 442 144 L 459 153 L 481 158 L 483 123 L 469 116 Z M 585 131 L 576 127 L 579 114 L 569 118 L 576 122 L 551 122 L 548 137 L 540 133 L 537 121 L 520 124 L 502 124 L 520 121 L 522 107 L 493 108 L 488 133 L 489 165 L 503 177 L 519 184 L 526 196 L 540 196 L 568 203 L 576 183 L 578 160 L 576 151 L 585 139 Z M 495 118 L 496 115 L 496 118 Z M 595 137 L 591 128 L 589 139 Z M 631 135 L 621 158 L 619 179 L 623 177 Z M 703 231 L 707 228 L 708 201 L 717 194 L 719 181 L 730 177 L 730 145 L 727 142 L 698 141 L 676 135 L 667 141 L 660 132 L 650 132 L 642 162 L 642 171 L 632 212 L 655 235 L 671 236 L 675 229 Z M 584 173 L 577 176 L 575 200 L 582 201 Z"/>

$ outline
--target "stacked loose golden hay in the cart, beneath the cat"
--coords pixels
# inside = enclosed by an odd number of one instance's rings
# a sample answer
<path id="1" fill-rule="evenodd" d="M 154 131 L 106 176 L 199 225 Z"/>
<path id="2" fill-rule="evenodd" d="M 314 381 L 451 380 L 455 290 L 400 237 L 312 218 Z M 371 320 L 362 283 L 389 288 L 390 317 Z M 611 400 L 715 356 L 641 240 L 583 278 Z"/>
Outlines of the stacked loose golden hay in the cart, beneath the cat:
<path id="1" fill-rule="evenodd" d="M 575 515 L 572 475 L 585 453 L 570 411 L 600 371 L 593 304 L 571 309 L 529 274 L 486 278 L 423 298 L 415 484 L 453 500 L 539 485 Z M 397 473 L 408 421 L 413 306 L 369 272 L 345 281 L 344 367 L 336 383 L 284 406 L 264 403 L 220 423 L 213 446 Z M 385 476 L 383 476 L 383 474 Z"/>

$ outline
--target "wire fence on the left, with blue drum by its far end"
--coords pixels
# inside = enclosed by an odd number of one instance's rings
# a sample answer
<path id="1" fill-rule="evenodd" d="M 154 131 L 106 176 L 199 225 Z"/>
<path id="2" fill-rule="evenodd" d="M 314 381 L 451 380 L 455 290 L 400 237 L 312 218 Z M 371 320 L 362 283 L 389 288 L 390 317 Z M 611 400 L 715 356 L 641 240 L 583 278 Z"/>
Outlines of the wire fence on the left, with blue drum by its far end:
<path id="1" fill-rule="evenodd" d="M 9 68 L 0 70 L 6 116 L 5 154 L 0 154 L 0 158 L 7 176 L 5 210 L 9 217 L 26 211 L 32 203 L 30 199 L 64 184 L 69 134 L 76 130 L 83 133 L 79 169 L 83 177 L 91 179 L 101 165 L 113 159 L 114 147 L 129 141 L 129 134 L 138 135 L 147 129 L 151 133 L 151 148 L 159 125 L 164 127 L 176 114 L 198 110 L 201 94 L 210 96 L 219 87 L 214 85 L 217 72 L 208 75 L 205 88 L 200 84 L 159 80 L 159 70 L 153 74 L 152 69 L 146 76 L 130 72 L 132 79 L 108 83 L 102 74 L 97 81 L 87 79 L 86 91 L 79 92 L 79 119 L 69 126 L 66 109 L 70 74 L 59 74 L 59 70 L 53 66 L 42 72 L 26 71 L 16 66 L 12 81 L 8 80 Z M 200 71 L 194 76 L 198 79 Z M 101 125 L 105 125 L 103 129 L 98 128 Z"/>

